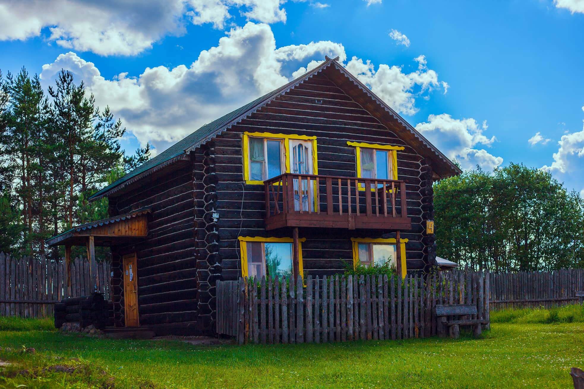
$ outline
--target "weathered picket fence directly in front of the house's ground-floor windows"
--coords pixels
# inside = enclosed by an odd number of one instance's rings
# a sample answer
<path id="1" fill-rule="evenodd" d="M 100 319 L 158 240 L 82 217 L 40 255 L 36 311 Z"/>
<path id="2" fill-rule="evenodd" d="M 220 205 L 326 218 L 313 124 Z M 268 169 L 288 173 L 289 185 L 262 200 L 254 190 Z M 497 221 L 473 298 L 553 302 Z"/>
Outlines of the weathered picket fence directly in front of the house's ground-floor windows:
<path id="1" fill-rule="evenodd" d="M 424 338 L 437 334 L 436 304 L 476 304 L 471 318 L 489 318 L 488 272 L 305 281 L 217 281 L 217 333 L 239 344 Z"/>

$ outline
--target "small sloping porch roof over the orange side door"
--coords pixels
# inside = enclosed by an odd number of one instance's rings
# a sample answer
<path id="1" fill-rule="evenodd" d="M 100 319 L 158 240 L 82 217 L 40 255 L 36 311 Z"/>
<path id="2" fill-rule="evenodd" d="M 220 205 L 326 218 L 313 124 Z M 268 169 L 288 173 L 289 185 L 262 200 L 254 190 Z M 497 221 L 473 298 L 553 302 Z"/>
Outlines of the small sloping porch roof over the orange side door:
<path id="1" fill-rule="evenodd" d="M 147 214 L 152 209 L 143 207 L 135 211 L 75 226 L 55 235 L 45 243 L 48 246 L 85 246 L 89 236 L 95 246 L 112 246 L 116 243 L 144 238 L 148 235 Z"/>

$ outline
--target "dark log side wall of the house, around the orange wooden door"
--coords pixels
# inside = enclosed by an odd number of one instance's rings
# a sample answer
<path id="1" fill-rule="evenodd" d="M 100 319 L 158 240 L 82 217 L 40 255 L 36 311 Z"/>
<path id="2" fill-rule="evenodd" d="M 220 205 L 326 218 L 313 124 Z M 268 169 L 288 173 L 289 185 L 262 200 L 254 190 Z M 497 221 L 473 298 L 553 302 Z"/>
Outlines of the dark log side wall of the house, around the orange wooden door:
<path id="1" fill-rule="evenodd" d="M 148 238 L 113 248 L 113 302 L 116 326 L 124 325 L 121 257 L 137 254 L 140 325 L 158 334 L 196 333 L 198 304 L 193 204 L 193 164 L 172 164 L 110 199 L 110 215 L 151 206 Z"/>

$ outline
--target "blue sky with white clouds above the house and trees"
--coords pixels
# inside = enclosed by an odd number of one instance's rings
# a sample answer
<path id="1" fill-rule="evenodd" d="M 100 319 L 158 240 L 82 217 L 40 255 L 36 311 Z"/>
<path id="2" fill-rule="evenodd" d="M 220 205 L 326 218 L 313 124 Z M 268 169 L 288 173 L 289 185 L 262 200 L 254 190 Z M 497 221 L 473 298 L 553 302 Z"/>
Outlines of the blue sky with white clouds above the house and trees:
<path id="1" fill-rule="evenodd" d="M 74 72 L 129 150 L 339 55 L 463 167 L 522 162 L 584 196 L 584 0 L 2 3 L 2 72 Z"/>

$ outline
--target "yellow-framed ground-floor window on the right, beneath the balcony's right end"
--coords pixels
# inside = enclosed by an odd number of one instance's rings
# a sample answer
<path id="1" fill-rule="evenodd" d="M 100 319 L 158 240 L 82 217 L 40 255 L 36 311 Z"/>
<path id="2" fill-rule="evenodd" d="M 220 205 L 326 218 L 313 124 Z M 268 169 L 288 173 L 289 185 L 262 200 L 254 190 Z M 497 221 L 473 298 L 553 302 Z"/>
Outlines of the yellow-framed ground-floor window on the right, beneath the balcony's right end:
<path id="1" fill-rule="evenodd" d="M 391 239 L 351 238 L 353 243 L 353 265 L 384 265 L 390 262 L 396 267 L 397 250 L 396 241 Z M 402 277 L 406 274 L 405 244 L 407 239 L 401 239 L 401 268 Z"/>

